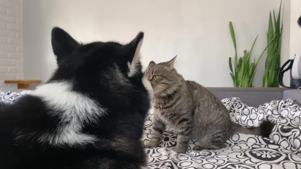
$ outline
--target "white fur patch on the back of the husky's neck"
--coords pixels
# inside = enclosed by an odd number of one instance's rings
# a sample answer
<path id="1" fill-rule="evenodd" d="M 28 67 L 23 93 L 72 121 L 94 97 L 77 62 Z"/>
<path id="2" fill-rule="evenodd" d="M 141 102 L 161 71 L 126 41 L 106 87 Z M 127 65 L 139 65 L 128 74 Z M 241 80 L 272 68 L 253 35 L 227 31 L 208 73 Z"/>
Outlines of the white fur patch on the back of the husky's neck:
<path id="1" fill-rule="evenodd" d="M 57 134 L 45 133 L 40 142 L 51 145 L 93 143 L 95 136 L 82 133 L 86 123 L 95 123 L 106 114 L 106 109 L 87 95 L 72 91 L 72 84 L 67 81 L 55 81 L 39 86 L 32 95 L 40 97 L 50 110 L 50 115 L 61 118 L 57 125 Z"/>

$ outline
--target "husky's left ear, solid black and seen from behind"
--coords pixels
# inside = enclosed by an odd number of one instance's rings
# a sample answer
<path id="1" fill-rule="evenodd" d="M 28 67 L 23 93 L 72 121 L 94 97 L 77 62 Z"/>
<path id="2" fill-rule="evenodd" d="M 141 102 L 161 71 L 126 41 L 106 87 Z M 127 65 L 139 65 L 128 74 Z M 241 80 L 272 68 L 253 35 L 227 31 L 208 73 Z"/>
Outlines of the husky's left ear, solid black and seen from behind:
<path id="1" fill-rule="evenodd" d="M 60 63 L 64 57 L 68 56 L 79 46 L 79 43 L 63 29 L 54 27 L 51 31 L 51 45 L 53 53 L 56 56 L 57 63 Z"/>

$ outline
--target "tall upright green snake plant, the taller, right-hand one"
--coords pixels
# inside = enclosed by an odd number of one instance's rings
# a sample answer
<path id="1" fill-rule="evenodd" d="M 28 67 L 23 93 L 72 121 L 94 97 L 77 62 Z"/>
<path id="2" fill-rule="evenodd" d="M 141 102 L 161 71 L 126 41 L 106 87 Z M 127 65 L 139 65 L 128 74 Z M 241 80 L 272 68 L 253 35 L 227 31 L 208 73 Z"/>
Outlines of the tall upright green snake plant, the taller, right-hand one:
<path id="1" fill-rule="evenodd" d="M 274 25 L 272 21 L 272 14 L 270 11 L 269 21 L 268 21 L 268 32 L 267 38 L 268 42 L 271 44 L 267 50 L 267 57 L 265 59 L 265 72 L 263 75 L 263 87 L 278 87 L 278 71 L 280 66 L 280 48 L 281 48 L 281 35 L 283 24 L 280 25 L 280 13 L 281 13 L 281 3 L 278 17 L 275 17 L 275 11 L 273 10 L 274 15 Z M 275 39 L 272 38 L 275 36 Z"/>

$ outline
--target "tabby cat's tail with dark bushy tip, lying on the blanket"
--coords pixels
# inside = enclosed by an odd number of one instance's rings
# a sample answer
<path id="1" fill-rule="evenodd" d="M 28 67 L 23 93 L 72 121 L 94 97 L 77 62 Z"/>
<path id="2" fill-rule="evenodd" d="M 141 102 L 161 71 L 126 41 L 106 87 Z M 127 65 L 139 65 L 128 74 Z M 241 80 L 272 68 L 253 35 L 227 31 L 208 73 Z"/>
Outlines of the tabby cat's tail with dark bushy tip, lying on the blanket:
<path id="1" fill-rule="evenodd" d="M 263 121 L 259 127 L 252 127 L 252 128 L 244 128 L 240 124 L 234 123 L 233 121 L 232 127 L 233 127 L 233 134 L 234 133 L 242 133 L 242 134 L 252 134 L 252 135 L 258 135 L 263 137 L 268 137 L 275 126 L 271 121 Z"/>

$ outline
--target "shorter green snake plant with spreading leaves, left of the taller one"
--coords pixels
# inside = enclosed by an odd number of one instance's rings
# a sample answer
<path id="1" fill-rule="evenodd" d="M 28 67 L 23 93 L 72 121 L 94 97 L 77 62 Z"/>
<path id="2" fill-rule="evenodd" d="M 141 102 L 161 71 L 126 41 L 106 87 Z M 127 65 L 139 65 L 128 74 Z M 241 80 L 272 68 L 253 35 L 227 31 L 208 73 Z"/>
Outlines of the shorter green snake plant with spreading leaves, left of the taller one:
<path id="1" fill-rule="evenodd" d="M 252 54 L 253 47 L 257 40 L 257 37 L 258 37 L 258 35 L 257 35 L 250 51 L 244 50 L 244 56 L 240 57 L 237 60 L 236 40 L 235 40 L 234 29 L 233 29 L 233 25 L 232 25 L 231 21 L 229 22 L 229 28 L 230 28 L 230 34 L 231 34 L 231 38 L 232 38 L 234 50 L 235 50 L 234 71 L 233 71 L 233 67 L 232 67 L 231 57 L 229 57 L 229 67 L 230 67 L 230 71 L 231 71 L 230 75 L 233 80 L 233 85 L 234 85 L 234 87 L 253 87 L 253 79 L 254 79 L 254 76 L 256 73 L 256 67 L 257 67 L 259 60 L 261 59 L 263 53 L 268 48 L 270 43 L 268 43 L 267 47 L 262 51 L 258 60 L 256 61 L 255 57 L 254 57 L 254 61 L 252 63 L 250 63 L 250 56 Z"/>

